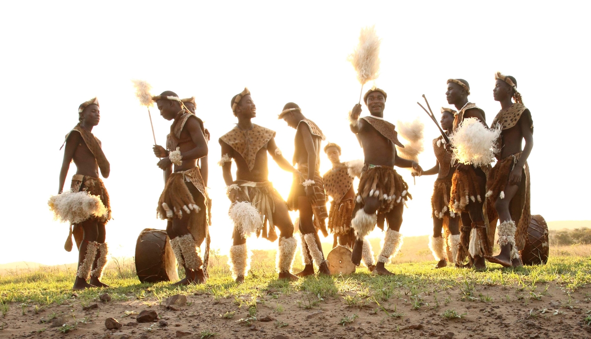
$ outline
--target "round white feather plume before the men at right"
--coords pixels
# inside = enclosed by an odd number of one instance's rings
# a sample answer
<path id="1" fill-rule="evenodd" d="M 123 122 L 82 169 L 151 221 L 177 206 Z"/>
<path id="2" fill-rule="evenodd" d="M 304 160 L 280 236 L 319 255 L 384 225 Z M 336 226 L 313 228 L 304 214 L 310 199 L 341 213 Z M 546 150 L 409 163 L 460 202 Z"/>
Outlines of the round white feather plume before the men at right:
<path id="1" fill-rule="evenodd" d="M 496 141 L 500 128 L 486 128 L 476 118 L 466 118 L 450 136 L 453 154 L 463 164 L 485 166 L 492 163 L 499 149 Z"/>

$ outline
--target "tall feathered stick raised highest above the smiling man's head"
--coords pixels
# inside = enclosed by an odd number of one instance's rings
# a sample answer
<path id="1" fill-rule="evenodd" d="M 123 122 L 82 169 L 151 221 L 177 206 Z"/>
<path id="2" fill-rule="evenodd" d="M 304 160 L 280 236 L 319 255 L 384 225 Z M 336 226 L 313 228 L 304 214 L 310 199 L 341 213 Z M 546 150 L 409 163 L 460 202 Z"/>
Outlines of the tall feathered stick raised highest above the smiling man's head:
<path id="1" fill-rule="evenodd" d="M 357 72 L 357 80 L 361 83 L 361 92 L 359 93 L 359 103 L 361 104 L 361 95 L 363 85 L 368 81 L 378 78 L 379 73 L 379 45 L 382 40 L 375 33 L 375 26 L 361 29 L 359 34 L 359 44 L 347 60 L 353 64 Z"/>

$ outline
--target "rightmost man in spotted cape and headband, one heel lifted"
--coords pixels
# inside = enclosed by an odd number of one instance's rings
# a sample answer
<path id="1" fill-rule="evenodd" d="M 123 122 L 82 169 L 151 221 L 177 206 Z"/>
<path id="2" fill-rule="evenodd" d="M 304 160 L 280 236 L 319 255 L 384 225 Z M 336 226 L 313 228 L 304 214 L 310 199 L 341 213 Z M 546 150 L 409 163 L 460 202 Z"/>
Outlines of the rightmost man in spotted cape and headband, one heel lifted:
<path id="1" fill-rule="evenodd" d="M 501 154 L 489 173 L 486 196 L 495 202 L 499 214 L 501 253 L 494 257 L 486 256 L 486 259 L 505 267 L 518 267 L 521 266 L 518 249 L 525 245 L 531 221 L 527 158 L 534 147 L 534 123 L 530 110 L 523 105 L 521 94 L 517 91 L 517 80 L 500 72 L 496 73 L 495 79 L 492 94 L 501 103 L 501 111 L 496 114 L 492 125 L 501 125 Z M 522 140 L 525 140 L 523 150 Z"/>

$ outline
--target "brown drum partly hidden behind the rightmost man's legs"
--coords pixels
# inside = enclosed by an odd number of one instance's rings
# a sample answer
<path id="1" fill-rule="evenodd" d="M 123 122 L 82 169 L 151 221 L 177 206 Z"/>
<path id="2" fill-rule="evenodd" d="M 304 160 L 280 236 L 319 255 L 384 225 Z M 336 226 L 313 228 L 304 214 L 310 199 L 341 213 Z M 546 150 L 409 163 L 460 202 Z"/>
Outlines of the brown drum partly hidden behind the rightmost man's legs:
<path id="1" fill-rule="evenodd" d="M 519 251 L 521 261 L 524 265 L 545 264 L 549 254 L 548 225 L 541 215 L 532 215 L 525 246 Z"/>

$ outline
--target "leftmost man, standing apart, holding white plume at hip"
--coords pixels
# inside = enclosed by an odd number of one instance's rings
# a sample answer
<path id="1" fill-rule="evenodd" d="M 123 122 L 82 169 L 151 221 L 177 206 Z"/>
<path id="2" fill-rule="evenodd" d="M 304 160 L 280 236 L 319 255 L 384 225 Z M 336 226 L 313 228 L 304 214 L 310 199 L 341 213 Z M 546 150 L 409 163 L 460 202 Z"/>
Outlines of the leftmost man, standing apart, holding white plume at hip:
<path id="1" fill-rule="evenodd" d="M 78 108 L 79 123 L 66 135 L 66 150 L 61 164 L 60 185 L 57 190 L 61 193 L 66 182 L 66 175 L 72 160 L 76 164 L 76 174 L 72 177 L 73 192 L 87 192 L 99 196 L 108 213 L 103 217 L 91 216 L 80 224 L 74 224 L 74 240 L 79 250 L 78 270 L 74 290 L 92 287 L 108 287 L 100 282 L 103 269 L 107 263 L 107 244 L 105 243 L 105 225 L 111 219 L 111 205 L 109 193 L 105 184 L 100 180 L 109 177 L 111 166 L 101 149 L 98 138 L 92 134 L 92 128 L 99 124 L 100 109 L 96 98 L 83 102 Z M 72 249 L 72 229 L 66 242 L 68 251 Z M 86 280 L 90 276 L 90 283 Z"/>

